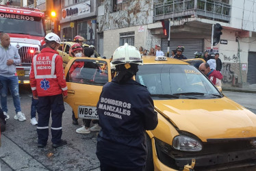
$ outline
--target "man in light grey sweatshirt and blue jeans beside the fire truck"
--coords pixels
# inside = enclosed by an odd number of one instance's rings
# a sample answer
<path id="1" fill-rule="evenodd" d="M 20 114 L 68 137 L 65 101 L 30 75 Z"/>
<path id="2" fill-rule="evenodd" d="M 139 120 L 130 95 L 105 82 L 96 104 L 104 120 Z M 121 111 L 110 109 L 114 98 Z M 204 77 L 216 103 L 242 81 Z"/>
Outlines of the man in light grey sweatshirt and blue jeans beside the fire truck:
<path id="1" fill-rule="evenodd" d="M 15 120 L 25 121 L 26 117 L 21 112 L 20 95 L 18 94 L 18 76 L 16 73 L 16 64 L 21 63 L 21 57 L 18 55 L 16 47 L 10 44 L 10 36 L 5 33 L 0 33 L 0 81 L 3 84 L 1 89 L 1 107 L 3 114 L 8 118 L 7 107 L 7 94 L 8 88 L 12 94 L 12 100 L 14 103 L 16 114 Z"/>

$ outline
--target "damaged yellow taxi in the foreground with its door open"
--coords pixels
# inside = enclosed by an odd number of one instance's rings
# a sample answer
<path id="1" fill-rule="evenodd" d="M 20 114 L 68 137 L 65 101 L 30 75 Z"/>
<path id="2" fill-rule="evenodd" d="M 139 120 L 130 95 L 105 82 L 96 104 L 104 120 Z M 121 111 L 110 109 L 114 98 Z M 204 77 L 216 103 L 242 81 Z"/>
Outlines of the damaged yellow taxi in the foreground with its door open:
<path id="1" fill-rule="evenodd" d="M 70 74 L 73 65 L 84 67 Z M 231 101 L 196 67 L 181 60 L 144 56 L 136 81 L 146 86 L 158 125 L 146 131 L 145 170 L 222 170 L 256 165 L 256 115 Z M 73 69 L 72 69 L 73 70 Z M 76 57 L 65 68 L 66 103 L 77 118 L 98 119 L 96 105 L 111 81 L 109 60 Z"/>

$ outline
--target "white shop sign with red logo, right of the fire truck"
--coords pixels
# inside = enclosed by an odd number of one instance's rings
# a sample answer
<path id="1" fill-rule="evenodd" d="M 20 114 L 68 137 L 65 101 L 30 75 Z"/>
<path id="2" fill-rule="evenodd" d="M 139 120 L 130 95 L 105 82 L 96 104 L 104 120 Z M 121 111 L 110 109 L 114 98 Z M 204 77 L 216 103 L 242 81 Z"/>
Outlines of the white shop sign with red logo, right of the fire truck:
<path id="1" fill-rule="evenodd" d="M 90 1 L 62 9 L 62 19 L 71 18 L 72 16 L 81 16 L 88 13 L 90 13 Z"/>

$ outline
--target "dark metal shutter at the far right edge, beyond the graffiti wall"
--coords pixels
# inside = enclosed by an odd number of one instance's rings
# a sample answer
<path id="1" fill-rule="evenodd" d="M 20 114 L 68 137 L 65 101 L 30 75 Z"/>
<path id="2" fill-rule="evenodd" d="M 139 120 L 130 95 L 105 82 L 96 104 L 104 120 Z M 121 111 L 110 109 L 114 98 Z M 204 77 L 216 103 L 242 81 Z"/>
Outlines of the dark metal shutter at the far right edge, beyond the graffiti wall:
<path id="1" fill-rule="evenodd" d="M 256 52 L 248 53 L 247 82 L 250 84 L 256 83 Z"/>

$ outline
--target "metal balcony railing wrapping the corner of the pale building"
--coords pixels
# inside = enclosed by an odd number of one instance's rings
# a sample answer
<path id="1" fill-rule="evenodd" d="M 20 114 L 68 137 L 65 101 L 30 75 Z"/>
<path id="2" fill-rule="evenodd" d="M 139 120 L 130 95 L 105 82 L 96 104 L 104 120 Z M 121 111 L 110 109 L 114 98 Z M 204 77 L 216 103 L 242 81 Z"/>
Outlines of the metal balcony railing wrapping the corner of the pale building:
<path id="1" fill-rule="evenodd" d="M 155 21 L 200 16 L 229 23 L 231 5 L 214 0 L 175 0 L 155 5 Z"/>

